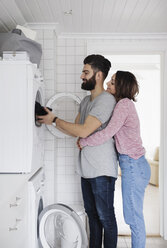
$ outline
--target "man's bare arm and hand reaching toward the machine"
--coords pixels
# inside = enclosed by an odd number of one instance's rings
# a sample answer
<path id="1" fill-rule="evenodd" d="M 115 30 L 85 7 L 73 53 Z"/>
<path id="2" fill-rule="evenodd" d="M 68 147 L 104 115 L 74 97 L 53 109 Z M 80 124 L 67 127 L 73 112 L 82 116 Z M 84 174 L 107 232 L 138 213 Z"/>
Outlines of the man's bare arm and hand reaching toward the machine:
<path id="1" fill-rule="evenodd" d="M 38 116 L 40 123 L 51 125 L 55 115 L 49 111 L 47 108 L 45 110 L 48 112 L 47 115 Z M 56 119 L 56 127 L 69 134 L 71 136 L 85 138 L 91 133 L 93 133 L 97 128 L 101 126 L 101 122 L 94 116 L 88 115 L 84 124 L 79 124 L 80 114 L 77 115 L 75 123 L 67 122 L 59 118 Z"/>

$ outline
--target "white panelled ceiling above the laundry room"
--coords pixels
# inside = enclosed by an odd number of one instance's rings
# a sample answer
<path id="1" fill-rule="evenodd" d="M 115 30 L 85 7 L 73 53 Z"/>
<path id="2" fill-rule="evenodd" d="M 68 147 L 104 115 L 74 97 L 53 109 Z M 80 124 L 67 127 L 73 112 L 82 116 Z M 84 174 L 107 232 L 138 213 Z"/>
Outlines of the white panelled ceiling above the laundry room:
<path id="1" fill-rule="evenodd" d="M 167 0 L 0 0 L 0 32 L 57 23 L 61 33 L 167 33 Z"/>

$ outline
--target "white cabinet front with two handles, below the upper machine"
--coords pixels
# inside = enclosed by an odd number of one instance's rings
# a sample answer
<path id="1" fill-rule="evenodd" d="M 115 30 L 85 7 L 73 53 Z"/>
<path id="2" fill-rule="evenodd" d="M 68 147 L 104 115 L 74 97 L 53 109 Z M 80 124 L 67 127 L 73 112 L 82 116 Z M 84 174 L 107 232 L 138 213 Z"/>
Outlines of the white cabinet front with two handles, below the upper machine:
<path id="1" fill-rule="evenodd" d="M 7 179 L 6 175 L 4 181 L 2 177 L 0 175 L 0 247 L 28 248 L 27 184 L 10 176 Z"/>

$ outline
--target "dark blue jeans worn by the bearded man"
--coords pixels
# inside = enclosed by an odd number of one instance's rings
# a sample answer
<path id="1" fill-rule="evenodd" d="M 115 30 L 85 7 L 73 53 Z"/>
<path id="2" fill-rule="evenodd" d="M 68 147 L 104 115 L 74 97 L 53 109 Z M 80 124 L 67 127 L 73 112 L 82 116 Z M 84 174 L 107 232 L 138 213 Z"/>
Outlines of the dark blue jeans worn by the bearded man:
<path id="1" fill-rule="evenodd" d="M 85 211 L 89 218 L 89 248 L 116 248 L 117 223 L 114 212 L 114 177 L 81 178 Z"/>

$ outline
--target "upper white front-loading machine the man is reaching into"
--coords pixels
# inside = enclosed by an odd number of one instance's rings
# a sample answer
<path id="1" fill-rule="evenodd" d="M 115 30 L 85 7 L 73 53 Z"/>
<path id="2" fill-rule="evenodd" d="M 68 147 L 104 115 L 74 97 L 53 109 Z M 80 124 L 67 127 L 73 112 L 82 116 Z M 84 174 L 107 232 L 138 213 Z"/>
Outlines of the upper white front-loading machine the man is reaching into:
<path id="1" fill-rule="evenodd" d="M 35 101 L 44 105 L 44 83 L 29 61 L 0 61 L 0 173 L 30 173 L 43 165 L 44 127 Z"/>

